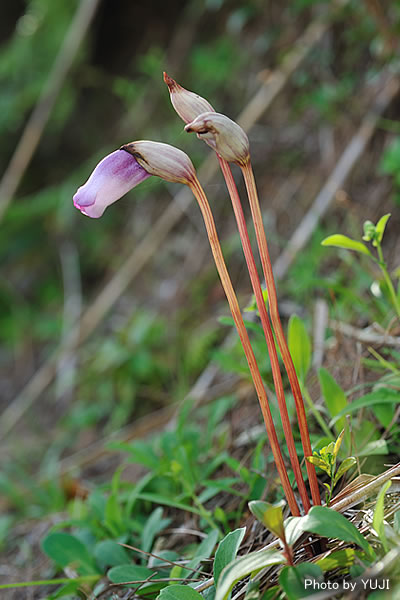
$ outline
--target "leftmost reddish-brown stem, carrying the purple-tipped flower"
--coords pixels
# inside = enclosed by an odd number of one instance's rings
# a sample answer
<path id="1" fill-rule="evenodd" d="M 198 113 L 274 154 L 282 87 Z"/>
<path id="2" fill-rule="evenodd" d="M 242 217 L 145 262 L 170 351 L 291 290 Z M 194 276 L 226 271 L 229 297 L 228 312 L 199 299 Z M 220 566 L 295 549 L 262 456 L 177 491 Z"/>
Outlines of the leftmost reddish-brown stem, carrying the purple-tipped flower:
<path id="1" fill-rule="evenodd" d="M 276 468 L 278 470 L 283 490 L 285 492 L 285 496 L 292 514 L 294 516 L 299 516 L 300 511 L 290 485 L 288 474 L 286 472 L 285 463 L 283 461 L 281 449 L 279 447 L 279 442 L 275 431 L 275 426 L 272 420 L 271 411 L 268 405 L 267 394 L 265 392 L 264 384 L 256 362 L 256 358 L 254 356 L 254 352 L 250 344 L 250 339 L 243 322 L 242 314 L 239 308 L 239 303 L 236 298 L 236 294 L 233 289 L 232 282 L 225 264 L 211 208 L 208 203 L 207 197 L 204 193 L 204 190 L 201 187 L 197 178 L 195 178 L 190 184 L 190 188 L 194 196 L 196 197 L 201 213 L 203 215 L 204 224 L 206 226 L 207 235 L 210 241 L 211 251 L 213 253 L 215 265 L 217 267 L 222 287 L 224 288 L 229 307 L 231 309 L 232 317 L 235 322 L 240 341 L 242 342 L 243 350 L 246 355 L 250 373 L 254 382 L 254 387 L 256 389 L 257 396 L 260 402 L 269 442 L 271 444 L 272 453 L 274 455 Z"/>

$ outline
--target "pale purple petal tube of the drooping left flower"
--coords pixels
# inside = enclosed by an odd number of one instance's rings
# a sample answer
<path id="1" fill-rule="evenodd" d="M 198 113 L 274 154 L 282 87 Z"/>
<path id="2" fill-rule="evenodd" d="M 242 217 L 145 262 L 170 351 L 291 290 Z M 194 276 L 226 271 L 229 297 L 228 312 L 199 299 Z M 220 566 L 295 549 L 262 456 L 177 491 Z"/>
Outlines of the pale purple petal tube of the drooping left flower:
<path id="1" fill-rule="evenodd" d="M 150 177 L 136 158 L 125 150 L 115 150 L 99 162 L 87 182 L 74 195 L 74 206 L 82 214 L 97 219 L 107 206 Z"/>

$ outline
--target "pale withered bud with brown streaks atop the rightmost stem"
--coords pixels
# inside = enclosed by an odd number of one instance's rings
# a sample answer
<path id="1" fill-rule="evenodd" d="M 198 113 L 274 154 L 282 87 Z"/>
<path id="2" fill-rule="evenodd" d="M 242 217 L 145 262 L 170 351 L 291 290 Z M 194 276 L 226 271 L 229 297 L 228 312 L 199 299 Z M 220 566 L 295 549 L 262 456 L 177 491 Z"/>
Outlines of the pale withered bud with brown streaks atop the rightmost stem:
<path id="1" fill-rule="evenodd" d="M 249 139 L 243 129 L 226 115 L 206 112 L 188 123 L 185 131 L 197 137 L 228 162 L 245 165 L 250 157 Z"/>

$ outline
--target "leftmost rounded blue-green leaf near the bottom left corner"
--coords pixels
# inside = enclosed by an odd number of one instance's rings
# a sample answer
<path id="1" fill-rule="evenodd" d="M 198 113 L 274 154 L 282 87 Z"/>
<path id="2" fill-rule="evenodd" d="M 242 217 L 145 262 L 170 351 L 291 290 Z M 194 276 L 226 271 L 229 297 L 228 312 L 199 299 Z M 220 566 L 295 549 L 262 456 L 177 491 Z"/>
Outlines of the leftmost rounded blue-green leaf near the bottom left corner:
<path id="1" fill-rule="evenodd" d="M 60 567 L 72 565 L 80 575 L 99 573 L 86 546 L 69 533 L 50 533 L 41 545 L 43 552 Z"/>

